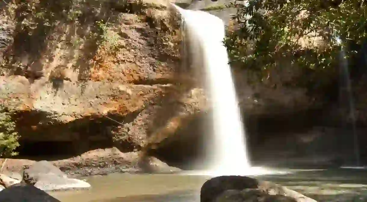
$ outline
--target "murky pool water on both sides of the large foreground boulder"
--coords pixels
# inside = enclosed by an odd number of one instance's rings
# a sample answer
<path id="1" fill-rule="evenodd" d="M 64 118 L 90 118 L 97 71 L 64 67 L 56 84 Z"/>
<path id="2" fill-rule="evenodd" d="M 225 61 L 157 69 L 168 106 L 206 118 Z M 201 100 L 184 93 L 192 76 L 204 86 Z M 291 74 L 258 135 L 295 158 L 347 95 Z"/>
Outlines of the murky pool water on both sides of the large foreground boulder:
<path id="1" fill-rule="evenodd" d="M 366 202 L 366 169 L 288 170 L 257 176 L 318 202 Z M 186 174 L 110 174 L 88 177 L 90 190 L 52 192 L 61 202 L 199 202 L 209 176 Z"/>

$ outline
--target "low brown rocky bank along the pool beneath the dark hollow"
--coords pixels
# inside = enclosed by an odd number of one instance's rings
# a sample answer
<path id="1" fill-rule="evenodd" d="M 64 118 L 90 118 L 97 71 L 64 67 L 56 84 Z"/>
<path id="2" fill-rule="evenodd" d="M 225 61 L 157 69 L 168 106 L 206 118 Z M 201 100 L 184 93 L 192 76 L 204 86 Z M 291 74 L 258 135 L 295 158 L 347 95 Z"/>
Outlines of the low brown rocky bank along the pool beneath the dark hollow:
<path id="1" fill-rule="evenodd" d="M 0 162 L 3 163 L 1 172 L 21 173 L 24 166 L 32 165 L 37 160 L 47 160 L 71 177 L 111 173 L 174 173 L 180 171 L 157 158 L 150 156 L 143 158 L 139 152 L 124 153 L 117 148 L 106 148 L 95 149 L 71 158 L 41 156 L 29 159 L 1 159 Z"/>

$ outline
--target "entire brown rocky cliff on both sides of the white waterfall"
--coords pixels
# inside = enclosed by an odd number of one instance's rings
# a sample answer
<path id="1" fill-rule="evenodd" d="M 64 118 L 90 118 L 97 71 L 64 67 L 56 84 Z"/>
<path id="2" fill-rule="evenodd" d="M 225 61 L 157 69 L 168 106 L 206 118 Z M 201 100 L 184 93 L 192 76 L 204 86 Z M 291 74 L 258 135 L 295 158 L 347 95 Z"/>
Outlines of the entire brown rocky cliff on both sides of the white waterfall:
<path id="1" fill-rule="evenodd" d="M 181 19 L 169 3 L 210 12 L 231 28 L 231 1 L 6 2 L 0 1 L 0 100 L 14 111 L 21 155 L 73 157 L 57 162 L 64 170 L 103 167 L 116 158 L 133 166 L 145 149 L 177 165 L 195 160 L 210 138 L 209 102 L 181 54 Z M 287 65 L 280 62 L 271 77 L 251 85 L 250 72 L 233 67 L 251 154 L 259 158 L 269 156 L 261 148 L 289 141 L 325 148 L 316 143 L 328 141 L 315 134 L 335 139 L 334 128 L 350 123 L 348 109 L 339 106 L 338 81 Z M 310 76 L 311 91 L 292 85 Z M 362 80 L 356 80 L 358 120 L 365 109 Z M 321 82 L 330 88 L 321 89 Z M 315 132 L 315 126 L 334 128 Z M 339 136 L 335 141 L 346 143 Z M 111 147 L 118 151 L 103 150 Z M 280 147 L 273 153 L 288 148 Z"/>

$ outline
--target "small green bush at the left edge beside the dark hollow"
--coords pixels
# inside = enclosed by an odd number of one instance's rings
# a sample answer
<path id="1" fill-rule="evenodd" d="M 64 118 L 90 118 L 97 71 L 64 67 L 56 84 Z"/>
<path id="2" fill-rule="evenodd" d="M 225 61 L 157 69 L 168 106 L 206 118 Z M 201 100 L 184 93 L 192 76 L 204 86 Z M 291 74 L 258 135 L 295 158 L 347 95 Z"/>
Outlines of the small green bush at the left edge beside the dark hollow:
<path id="1" fill-rule="evenodd" d="M 10 113 L 0 105 L 0 156 L 9 157 L 17 155 L 14 150 L 19 146 L 18 133 L 15 123 L 11 120 Z"/>

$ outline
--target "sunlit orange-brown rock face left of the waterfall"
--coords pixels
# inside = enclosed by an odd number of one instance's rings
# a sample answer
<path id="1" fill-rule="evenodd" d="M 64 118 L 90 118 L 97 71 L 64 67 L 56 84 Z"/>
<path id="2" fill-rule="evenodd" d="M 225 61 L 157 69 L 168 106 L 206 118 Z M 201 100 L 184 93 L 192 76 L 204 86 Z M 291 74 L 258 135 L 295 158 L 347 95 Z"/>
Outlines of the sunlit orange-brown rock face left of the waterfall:
<path id="1" fill-rule="evenodd" d="M 15 111 L 22 147 L 68 142 L 74 155 L 136 152 L 208 108 L 181 68 L 181 22 L 170 1 L 50 2 L 9 3 L 26 24 L 2 13 L 0 101 Z"/>

